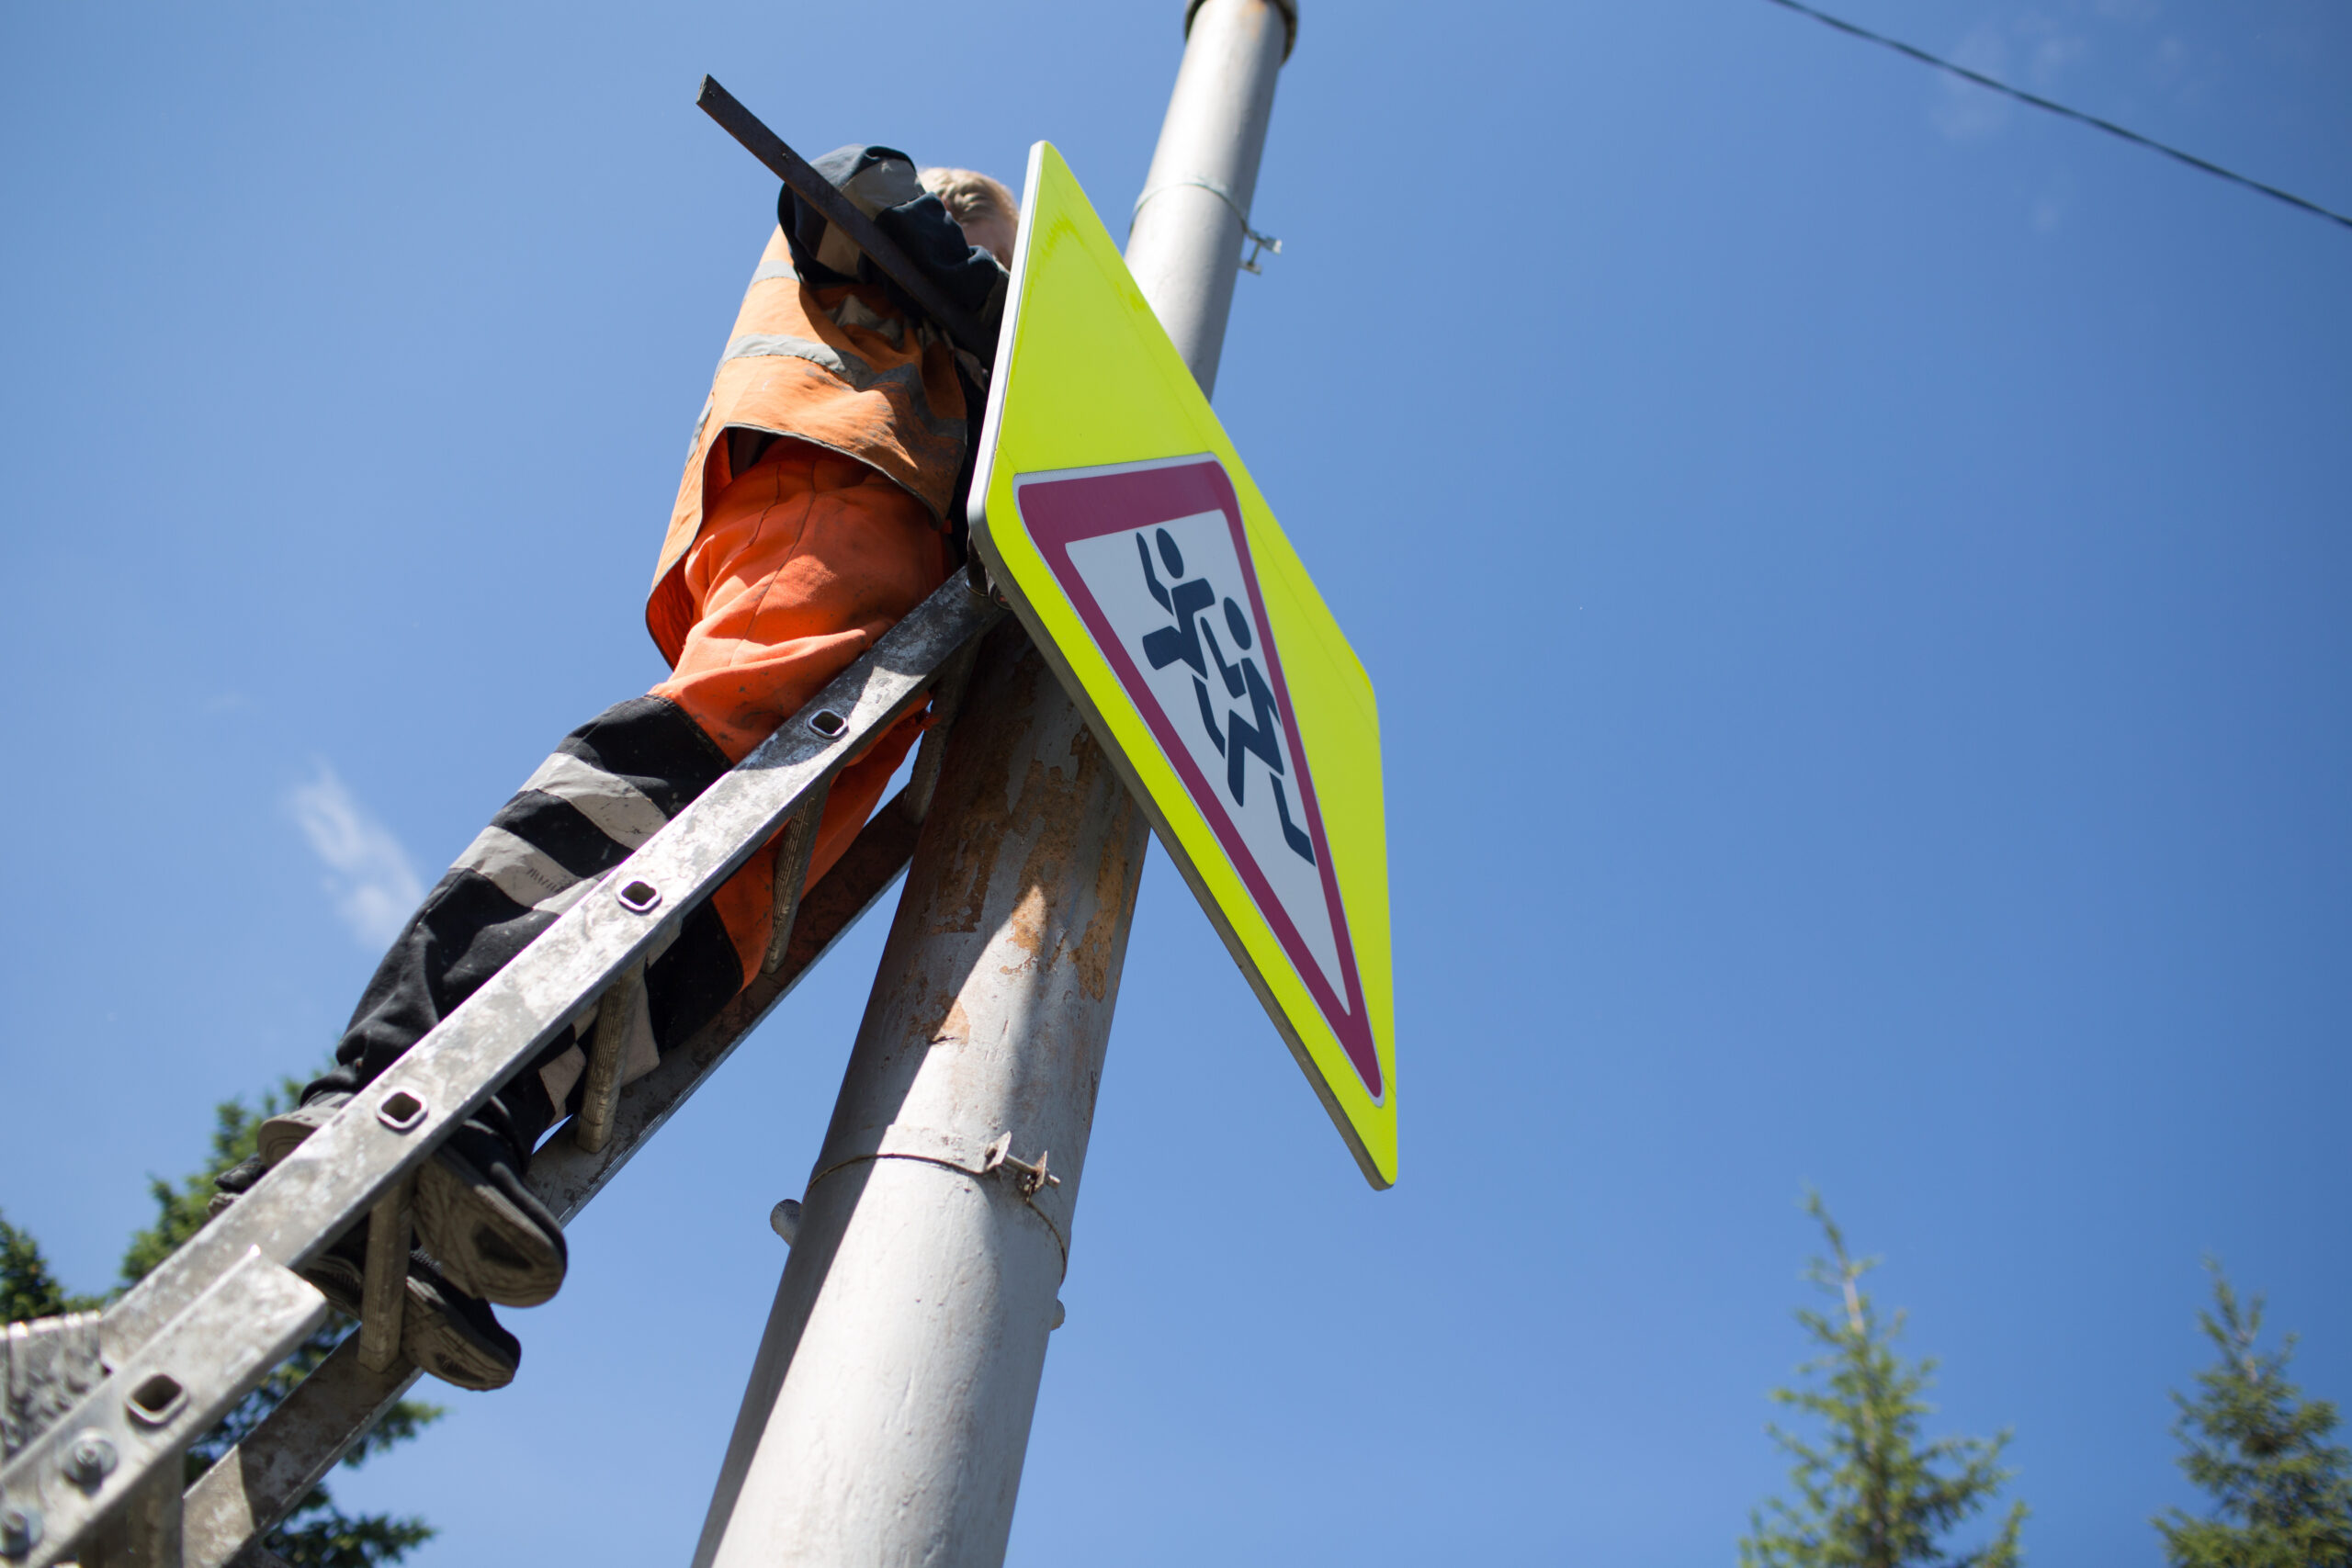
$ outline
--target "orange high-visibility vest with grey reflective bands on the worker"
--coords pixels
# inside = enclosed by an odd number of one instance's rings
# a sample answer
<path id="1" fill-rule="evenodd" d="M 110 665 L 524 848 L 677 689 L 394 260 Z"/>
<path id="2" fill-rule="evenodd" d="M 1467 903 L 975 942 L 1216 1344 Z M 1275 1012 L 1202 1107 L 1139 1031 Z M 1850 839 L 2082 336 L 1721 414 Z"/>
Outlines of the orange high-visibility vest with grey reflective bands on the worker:
<path id="1" fill-rule="evenodd" d="M 734 480 L 727 430 L 764 430 L 828 447 L 894 480 L 946 527 L 964 463 L 964 388 L 950 343 L 901 313 L 880 284 L 809 287 L 783 230 L 743 294 L 687 449 L 670 534 L 654 567 L 644 628 L 670 665 L 694 625 L 677 581 L 703 529 L 703 505 Z"/>

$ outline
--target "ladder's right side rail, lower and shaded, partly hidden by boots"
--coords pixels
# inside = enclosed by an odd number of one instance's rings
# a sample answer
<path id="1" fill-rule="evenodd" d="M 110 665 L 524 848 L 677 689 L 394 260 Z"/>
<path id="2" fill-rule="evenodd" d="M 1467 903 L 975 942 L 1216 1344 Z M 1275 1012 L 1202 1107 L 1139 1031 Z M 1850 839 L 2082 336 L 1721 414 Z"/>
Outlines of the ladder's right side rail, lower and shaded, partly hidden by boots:
<path id="1" fill-rule="evenodd" d="M 769 1011 L 882 900 L 906 870 L 908 856 L 915 853 L 917 827 L 908 792 L 901 790 L 875 811 L 833 870 L 807 891 L 783 964 L 743 987 L 687 1044 L 666 1051 L 654 1072 L 621 1091 L 612 1135 L 602 1150 L 581 1150 L 574 1138 L 557 1133 L 532 1157 L 532 1190 L 560 1222 L 569 1225 L 760 1027 Z M 238 1554 L 275 1530 L 416 1378 L 419 1373 L 407 1363 L 390 1373 L 360 1368 L 355 1340 L 336 1347 L 261 1427 L 221 1455 L 188 1490 L 186 1568 L 228 1568 L 233 1561 L 238 1568 L 252 1568 L 252 1559 L 238 1559 Z"/>

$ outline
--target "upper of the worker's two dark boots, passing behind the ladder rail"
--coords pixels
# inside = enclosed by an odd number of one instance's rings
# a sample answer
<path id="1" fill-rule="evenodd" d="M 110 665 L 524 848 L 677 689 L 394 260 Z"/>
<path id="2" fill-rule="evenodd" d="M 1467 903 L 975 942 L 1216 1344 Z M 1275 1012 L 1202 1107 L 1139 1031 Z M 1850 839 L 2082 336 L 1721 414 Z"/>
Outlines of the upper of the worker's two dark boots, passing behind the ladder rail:
<path id="1" fill-rule="evenodd" d="M 350 1100 L 327 1091 L 261 1124 L 275 1166 Z M 529 1157 L 480 1121 L 461 1124 L 416 1173 L 416 1239 L 442 1276 L 501 1307 L 536 1307 L 564 1284 L 564 1229 L 524 1185 Z"/>

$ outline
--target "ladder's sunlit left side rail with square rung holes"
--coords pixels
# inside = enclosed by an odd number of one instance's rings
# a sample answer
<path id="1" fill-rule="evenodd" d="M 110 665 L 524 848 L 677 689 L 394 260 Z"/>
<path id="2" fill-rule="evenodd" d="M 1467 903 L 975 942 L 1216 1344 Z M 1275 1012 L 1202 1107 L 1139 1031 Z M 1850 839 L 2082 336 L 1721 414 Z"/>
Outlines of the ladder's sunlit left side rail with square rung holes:
<path id="1" fill-rule="evenodd" d="M 223 1284 L 247 1253 L 259 1251 L 275 1265 L 299 1267 L 325 1248 L 423 1164 L 440 1138 L 560 1027 L 593 1006 L 668 922 L 682 919 L 717 891 L 811 790 L 828 785 L 849 757 L 910 712 L 941 668 L 1000 614 L 971 592 L 962 574 L 941 585 L 228 1213 L 115 1302 L 101 1319 L 108 1366 L 139 1356 L 188 1305 Z M 623 905 L 623 893 L 637 896 L 635 903 Z M 282 1359 L 256 1361 L 259 1354 L 252 1345 L 219 1347 L 214 1363 L 176 1371 L 183 1371 L 191 1387 L 242 1392 Z M 71 1425 L 89 1408 L 111 1408 L 122 1394 L 118 1382 L 108 1373 L 59 1425 Z M 0 1469 L 0 1493 L 35 1495 L 45 1472 L 56 1467 L 56 1455 L 47 1448 L 42 1443 L 12 1458 Z M 143 1479 L 148 1467 L 125 1465 L 129 1474 L 120 1486 Z M 52 1549 L 61 1544 L 52 1537 Z"/>

